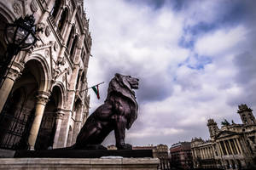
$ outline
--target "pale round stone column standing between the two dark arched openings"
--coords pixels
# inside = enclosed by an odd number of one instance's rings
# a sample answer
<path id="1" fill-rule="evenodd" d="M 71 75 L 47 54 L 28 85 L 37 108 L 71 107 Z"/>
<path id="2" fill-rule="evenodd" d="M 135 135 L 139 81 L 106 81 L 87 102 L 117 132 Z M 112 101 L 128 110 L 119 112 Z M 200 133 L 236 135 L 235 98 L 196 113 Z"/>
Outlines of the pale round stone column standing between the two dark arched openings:
<path id="1" fill-rule="evenodd" d="M 28 137 L 28 144 L 30 146 L 30 150 L 34 150 L 34 146 L 38 137 L 38 131 L 44 115 L 45 105 L 47 104 L 48 100 L 49 93 L 40 92 L 37 96 L 35 117 Z"/>

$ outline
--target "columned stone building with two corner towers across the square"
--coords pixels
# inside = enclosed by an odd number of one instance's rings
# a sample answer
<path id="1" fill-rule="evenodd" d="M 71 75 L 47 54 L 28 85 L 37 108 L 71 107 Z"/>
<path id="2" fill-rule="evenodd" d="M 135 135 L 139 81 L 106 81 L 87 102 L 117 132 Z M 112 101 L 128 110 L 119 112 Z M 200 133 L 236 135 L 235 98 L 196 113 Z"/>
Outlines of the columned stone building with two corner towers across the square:
<path id="1" fill-rule="evenodd" d="M 237 113 L 242 124 L 226 123 L 220 129 L 209 119 L 211 139 L 192 139 L 191 148 L 195 168 L 255 169 L 256 123 L 253 110 L 239 105 Z"/>

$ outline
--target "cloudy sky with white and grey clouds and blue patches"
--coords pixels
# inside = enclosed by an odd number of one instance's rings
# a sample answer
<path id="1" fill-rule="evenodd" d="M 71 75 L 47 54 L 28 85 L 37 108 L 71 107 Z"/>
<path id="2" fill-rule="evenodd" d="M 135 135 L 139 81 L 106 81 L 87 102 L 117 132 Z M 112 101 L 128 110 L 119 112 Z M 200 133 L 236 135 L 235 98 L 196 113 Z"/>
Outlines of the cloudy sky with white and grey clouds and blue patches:
<path id="1" fill-rule="evenodd" d="M 85 0 L 93 40 L 90 113 L 114 73 L 140 79 L 134 145 L 208 139 L 207 119 L 241 123 L 237 105 L 256 111 L 253 0 Z M 255 113 L 254 113 L 255 115 Z M 114 144 L 113 134 L 104 144 Z"/>

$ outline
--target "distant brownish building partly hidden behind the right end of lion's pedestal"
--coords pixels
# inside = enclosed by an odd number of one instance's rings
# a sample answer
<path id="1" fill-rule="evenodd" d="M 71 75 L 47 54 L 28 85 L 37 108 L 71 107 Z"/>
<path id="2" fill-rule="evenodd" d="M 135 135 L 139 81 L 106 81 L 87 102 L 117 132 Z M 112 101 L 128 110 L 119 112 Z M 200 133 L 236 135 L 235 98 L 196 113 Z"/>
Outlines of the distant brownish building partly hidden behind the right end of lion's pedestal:
<path id="1" fill-rule="evenodd" d="M 171 169 L 170 157 L 168 156 L 168 146 L 166 144 L 153 144 L 148 146 L 133 146 L 132 150 L 152 150 L 153 157 L 160 159 L 160 165 L 158 169 L 169 170 Z"/>

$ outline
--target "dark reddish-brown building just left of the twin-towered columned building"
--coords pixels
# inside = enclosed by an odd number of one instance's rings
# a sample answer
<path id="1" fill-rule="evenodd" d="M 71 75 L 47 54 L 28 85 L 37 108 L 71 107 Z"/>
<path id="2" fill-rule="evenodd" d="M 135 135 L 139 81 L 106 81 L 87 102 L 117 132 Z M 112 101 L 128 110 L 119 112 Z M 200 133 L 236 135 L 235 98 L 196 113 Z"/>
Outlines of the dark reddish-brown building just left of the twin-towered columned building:
<path id="1" fill-rule="evenodd" d="M 170 148 L 172 167 L 192 169 L 193 160 L 190 142 L 179 142 L 172 144 Z"/>

